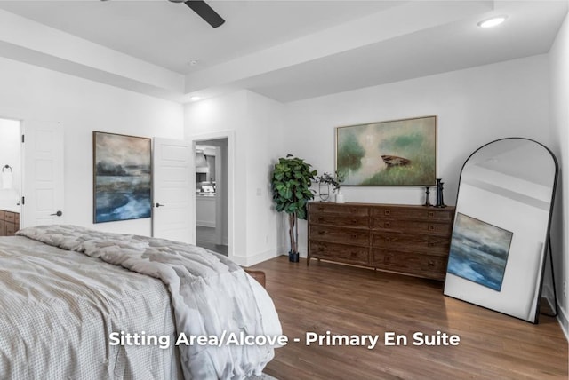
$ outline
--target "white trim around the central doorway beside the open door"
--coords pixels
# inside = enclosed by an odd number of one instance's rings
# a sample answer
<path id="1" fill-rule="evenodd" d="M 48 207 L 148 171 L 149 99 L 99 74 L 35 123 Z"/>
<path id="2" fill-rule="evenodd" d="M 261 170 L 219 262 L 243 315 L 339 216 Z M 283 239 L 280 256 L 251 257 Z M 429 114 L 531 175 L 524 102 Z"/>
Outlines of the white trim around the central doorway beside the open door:
<path id="1" fill-rule="evenodd" d="M 196 143 L 199 144 L 201 141 L 213 140 L 213 139 L 228 139 L 228 194 L 226 194 L 228 199 L 228 257 L 233 260 L 235 257 L 235 131 L 225 130 L 225 131 L 212 131 L 208 133 L 200 133 L 197 135 L 191 135 L 188 137 L 189 142 L 192 144 L 192 151 L 196 150 Z M 194 168 L 195 172 L 195 168 Z M 196 176 L 193 176 L 194 187 L 196 187 Z M 191 191 L 191 206 L 193 210 L 196 210 L 196 192 Z M 191 224 L 196 228 L 196 212 L 191 215 Z"/>

